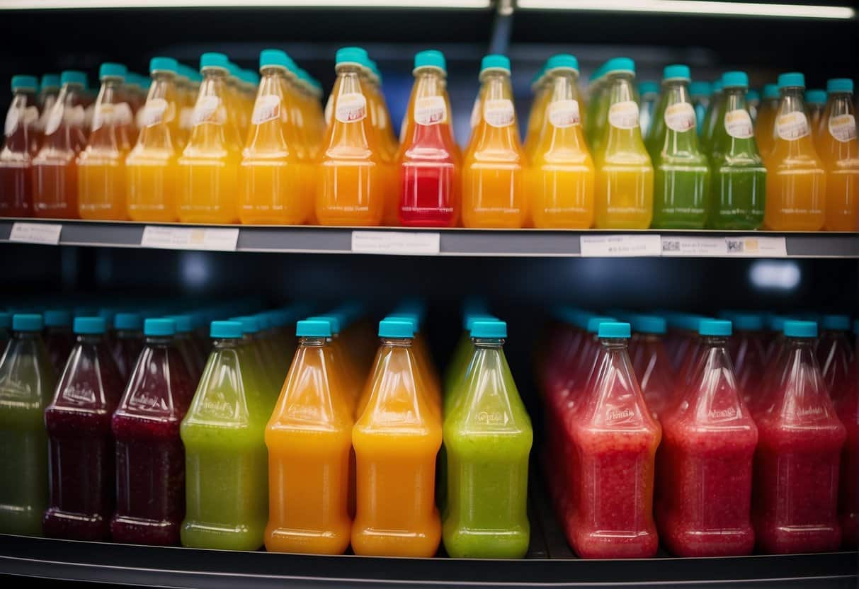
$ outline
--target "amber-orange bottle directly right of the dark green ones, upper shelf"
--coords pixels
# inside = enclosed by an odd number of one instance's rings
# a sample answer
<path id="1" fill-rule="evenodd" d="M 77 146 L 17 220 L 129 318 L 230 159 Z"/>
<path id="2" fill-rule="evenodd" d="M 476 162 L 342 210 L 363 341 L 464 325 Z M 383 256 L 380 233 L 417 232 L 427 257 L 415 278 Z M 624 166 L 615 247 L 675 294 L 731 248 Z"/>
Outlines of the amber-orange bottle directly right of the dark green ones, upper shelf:
<path id="1" fill-rule="evenodd" d="M 825 219 L 826 173 L 814 149 L 803 100 L 805 76 L 778 76 L 781 100 L 766 159 L 764 223 L 774 231 L 819 231 Z"/>

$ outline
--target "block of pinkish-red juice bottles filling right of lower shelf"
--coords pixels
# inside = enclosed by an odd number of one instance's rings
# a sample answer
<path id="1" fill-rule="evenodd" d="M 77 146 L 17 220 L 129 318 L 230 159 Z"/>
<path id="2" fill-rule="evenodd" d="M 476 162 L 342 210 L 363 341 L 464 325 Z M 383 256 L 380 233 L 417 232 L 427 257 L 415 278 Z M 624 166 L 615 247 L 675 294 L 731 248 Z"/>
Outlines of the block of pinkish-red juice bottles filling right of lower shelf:
<path id="1" fill-rule="evenodd" d="M 542 459 L 576 554 L 856 549 L 847 316 L 772 316 L 766 331 L 746 312 L 556 314 L 538 355 Z"/>

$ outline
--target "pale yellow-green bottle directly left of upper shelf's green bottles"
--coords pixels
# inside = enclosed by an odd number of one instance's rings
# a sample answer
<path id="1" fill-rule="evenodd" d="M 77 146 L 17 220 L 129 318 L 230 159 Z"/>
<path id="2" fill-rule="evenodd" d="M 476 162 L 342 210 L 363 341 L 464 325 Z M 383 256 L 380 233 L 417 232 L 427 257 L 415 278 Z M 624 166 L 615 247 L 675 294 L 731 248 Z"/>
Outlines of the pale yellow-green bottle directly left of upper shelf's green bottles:
<path id="1" fill-rule="evenodd" d="M 603 143 L 594 150 L 594 226 L 646 229 L 653 216 L 653 165 L 638 126 L 632 85 L 636 66 L 629 58 L 615 58 L 606 64 L 606 70 L 606 130 Z"/>

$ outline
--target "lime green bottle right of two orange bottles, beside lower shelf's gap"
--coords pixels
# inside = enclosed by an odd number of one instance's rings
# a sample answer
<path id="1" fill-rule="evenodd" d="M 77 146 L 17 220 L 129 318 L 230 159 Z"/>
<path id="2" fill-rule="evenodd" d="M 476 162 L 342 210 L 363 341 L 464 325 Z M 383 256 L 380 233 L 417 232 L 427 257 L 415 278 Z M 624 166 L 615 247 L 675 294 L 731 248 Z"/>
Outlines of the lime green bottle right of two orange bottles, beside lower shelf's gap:
<path id="1" fill-rule="evenodd" d="M 533 431 L 504 357 L 505 337 L 503 321 L 472 324 L 468 381 L 445 415 L 448 503 L 442 529 L 449 556 L 521 558 L 528 548 Z"/>

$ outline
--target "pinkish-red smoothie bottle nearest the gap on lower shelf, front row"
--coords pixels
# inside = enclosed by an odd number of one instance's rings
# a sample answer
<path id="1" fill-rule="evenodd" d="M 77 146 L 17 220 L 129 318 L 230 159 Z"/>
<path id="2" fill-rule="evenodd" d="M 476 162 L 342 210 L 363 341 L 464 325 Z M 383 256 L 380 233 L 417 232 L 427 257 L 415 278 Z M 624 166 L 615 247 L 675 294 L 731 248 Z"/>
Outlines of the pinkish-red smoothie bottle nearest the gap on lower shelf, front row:
<path id="1" fill-rule="evenodd" d="M 571 424 L 578 468 L 568 536 L 582 558 L 654 556 L 654 458 L 661 428 L 632 370 L 628 323 L 600 324 L 598 364 Z"/>

